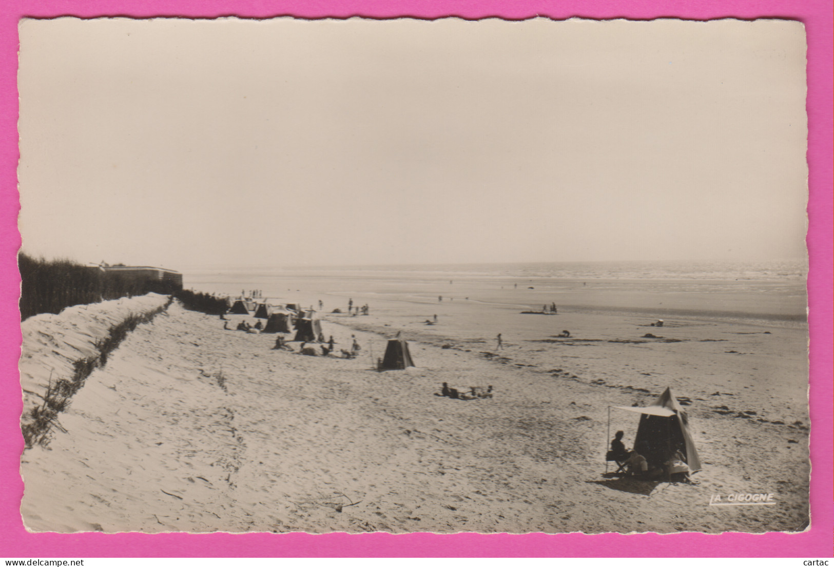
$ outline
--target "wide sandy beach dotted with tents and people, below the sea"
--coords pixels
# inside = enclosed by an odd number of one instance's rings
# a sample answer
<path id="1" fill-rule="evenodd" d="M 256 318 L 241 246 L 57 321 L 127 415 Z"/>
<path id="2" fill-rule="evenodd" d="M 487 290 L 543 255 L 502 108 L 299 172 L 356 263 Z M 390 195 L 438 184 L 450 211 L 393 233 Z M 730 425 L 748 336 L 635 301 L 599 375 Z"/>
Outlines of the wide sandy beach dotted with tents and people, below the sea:
<path id="1" fill-rule="evenodd" d="M 791 304 L 800 299 L 771 302 L 733 284 L 726 301 L 633 286 L 590 294 L 574 282 L 545 316 L 521 314 L 554 297 L 536 282 L 327 285 L 308 279 L 281 300 L 321 299 L 324 334 L 337 352 L 355 335 L 356 359 L 274 350 L 274 334 L 224 330 L 176 303 L 139 325 L 74 395 L 66 431 L 23 453 L 28 529 L 806 528 L 807 331 Z M 348 299 L 370 314 L 331 313 Z M 649 326 L 657 317 L 662 328 Z M 254 323 L 228 318 L 233 329 Z M 570 338 L 558 336 L 565 329 Z M 397 332 L 417 368 L 375 371 Z M 492 385 L 494 397 L 441 397 L 443 382 Z M 651 404 L 666 387 L 689 413 L 697 484 L 605 476 L 609 436 L 622 429 L 630 444 L 638 420 L 609 406 Z M 776 504 L 709 505 L 736 493 L 774 494 Z"/>

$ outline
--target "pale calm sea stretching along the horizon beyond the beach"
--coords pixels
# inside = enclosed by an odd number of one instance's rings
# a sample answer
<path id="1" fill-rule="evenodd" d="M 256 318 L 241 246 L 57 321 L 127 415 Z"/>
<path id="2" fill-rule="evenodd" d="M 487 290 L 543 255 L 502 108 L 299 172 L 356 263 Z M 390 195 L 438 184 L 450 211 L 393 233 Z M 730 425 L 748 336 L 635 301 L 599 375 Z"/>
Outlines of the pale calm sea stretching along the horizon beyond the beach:
<path id="1" fill-rule="evenodd" d="M 314 304 L 329 298 L 511 309 L 559 304 L 579 311 L 771 319 L 804 324 L 805 260 L 768 262 L 550 262 L 249 266 L 183 270 L 183 285 L 236 298 Z"/>

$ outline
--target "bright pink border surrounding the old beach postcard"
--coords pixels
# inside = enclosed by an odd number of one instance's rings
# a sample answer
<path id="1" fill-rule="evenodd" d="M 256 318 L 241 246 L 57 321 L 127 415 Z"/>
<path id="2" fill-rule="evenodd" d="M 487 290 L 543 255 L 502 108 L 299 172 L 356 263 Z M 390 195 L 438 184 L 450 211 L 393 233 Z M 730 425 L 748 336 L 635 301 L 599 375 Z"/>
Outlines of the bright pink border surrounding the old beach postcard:
<path id="1" fill-rule="evenodd" d="M 0 0 L 0 557 L 830 557 L 832 551 L 831 451 L 831 0 L 333 0 L 329 3 L 263 0 Z M 810 194 L 808 248 L 811 273 L 811 478 L 812 528 L 802 534 L 29 534 L 19 502 L 23 483 L 18 458 L 23 439 L 17 362 L 18 273 L 15 253 L 18 195 L 17 52 L 19 18 L 72 15 L 237 15 L 268 18 L 373 18 L 412 16 L 467 19 L 676 17 L 793 18 L 808 38 Z"/>

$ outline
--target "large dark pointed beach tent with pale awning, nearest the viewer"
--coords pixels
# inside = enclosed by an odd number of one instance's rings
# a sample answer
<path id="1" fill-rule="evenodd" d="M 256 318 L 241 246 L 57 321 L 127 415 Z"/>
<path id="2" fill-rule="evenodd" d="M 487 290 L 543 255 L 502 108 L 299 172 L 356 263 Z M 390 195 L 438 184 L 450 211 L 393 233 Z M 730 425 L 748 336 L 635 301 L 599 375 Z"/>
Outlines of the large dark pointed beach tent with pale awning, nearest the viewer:
<path id="1" fill-rule="evenodd" d="M 675 451 L 681 451 L 691 472 L 701 470 L 701 459 L 689 433 L 686 411 L 678 404 L 671 389 L 667 388 L 654 402 L 645 408 L 615 406 L 616 409 L 633 411 L 640 416 L 634 448 L 646 457 L 649 464 L 666 462 Z"/>

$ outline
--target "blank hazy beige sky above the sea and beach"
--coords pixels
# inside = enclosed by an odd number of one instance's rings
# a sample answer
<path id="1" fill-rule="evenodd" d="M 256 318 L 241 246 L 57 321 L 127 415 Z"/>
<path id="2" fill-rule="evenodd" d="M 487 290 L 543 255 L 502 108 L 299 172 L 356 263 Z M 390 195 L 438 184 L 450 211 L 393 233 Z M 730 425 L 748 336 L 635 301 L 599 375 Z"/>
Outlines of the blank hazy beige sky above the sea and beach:
<path id="1" fill-rule="evenodd" d="M 30 253 L 805 253 L 800 23 L 62 18 L 20 34 Z"/>

